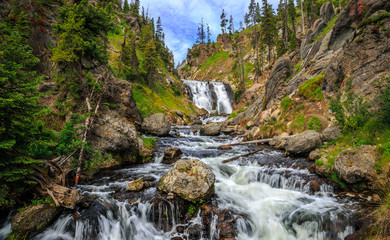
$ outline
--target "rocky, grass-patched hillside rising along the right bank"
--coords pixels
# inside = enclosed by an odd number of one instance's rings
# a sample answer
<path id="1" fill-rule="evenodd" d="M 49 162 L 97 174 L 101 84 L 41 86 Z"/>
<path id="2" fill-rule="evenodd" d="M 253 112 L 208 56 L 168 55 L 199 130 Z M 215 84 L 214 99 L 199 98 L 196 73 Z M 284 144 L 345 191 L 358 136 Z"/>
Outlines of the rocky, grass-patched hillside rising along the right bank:
<path id="1" fill-rule="evenodd" d="M 211 46 L 195 45 L 179 74 L 186 79 L 231 85 L 235 110 L 222 124 L 222 132 L 235 131 L 246 140 L 274 138 L 270 144 L 286 154 L 291 152 L 283 137 L 306 130 L 322 133 L 325 145 L 310 154 L 315 172 L 335 181 L 341 191 L 364 189 L 378 193 L 383 209 L 390 196 L 389 11 L 387 1 L 351 0 L 343 9 L 324 3 L 312 26 L 305 26 L 305 34 L 297 23 L 300 44 L 296 48 L 278 57 L 278 46 L 273 46 L 270 52 L 275 54 L 270 62 L 261 62 L 261 74 L 256 74 L 254 68 L 258 58 L 250 40 L 254 28 L 265 28 L 261 24 L 219 35 Z M 278 21 L 276 25 L 282 26 Z M 291 25 L 289 28 L 293 31 Z M 239 39 L 241 59 L 232 49 L 235 39 Z M 259 57 L 266 58 L 267 54 L 266 48 Z M 244 62 L 245 84 L 236 68 L 239 61 Z M 240 89 L 243 85 L 245 91 Z M 329 132 L 336 137 L 327 137 Z M 358 156 L 365 148 L 374 152 L 375 163 L 367 165 L 354 158 L 342 166 L 342 156 L 348 151 Z M 352 180 L 354 174 L 350 171 L 359 177 Z M 383 221 L 378 220 L 375 226 Z M 384 236 L 388 228 L 379 228 L 378 234 Z"/>

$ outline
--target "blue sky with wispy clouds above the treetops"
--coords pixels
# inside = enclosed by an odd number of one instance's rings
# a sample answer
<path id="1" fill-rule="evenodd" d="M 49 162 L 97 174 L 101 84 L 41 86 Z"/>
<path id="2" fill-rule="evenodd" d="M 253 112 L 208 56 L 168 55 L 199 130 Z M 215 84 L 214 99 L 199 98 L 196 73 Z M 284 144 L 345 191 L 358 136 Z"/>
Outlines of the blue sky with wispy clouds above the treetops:
<path id="1" fill-rule="evenodd" d="M 208 23 L 213 40 L 221 33 L 220 15 L 225 9 L 227 16 L 233 15 L 234 25 L 238 28 L 248 11 L 250 0 L 141 0 L 141 5 L 161 22 L 165 32 L 165 42 L 175 55 L 175 64 L 187 55 L 187 49 L 196 41 L 198 23 L 203 17 Z M 279 0 L 269 0 L 274 8 Z M 244 21 L 243 21 L 244 22 Z"/>

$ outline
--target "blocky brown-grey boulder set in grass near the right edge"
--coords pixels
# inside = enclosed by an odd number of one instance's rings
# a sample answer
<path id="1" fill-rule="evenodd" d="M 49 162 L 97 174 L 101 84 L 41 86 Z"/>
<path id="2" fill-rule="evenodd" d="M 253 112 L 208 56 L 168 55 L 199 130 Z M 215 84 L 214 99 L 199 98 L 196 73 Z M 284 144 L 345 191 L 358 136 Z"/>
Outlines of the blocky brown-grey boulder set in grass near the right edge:
<path id="1" fill-rule="evenodd" d="M 356 152 L 347 149 L 340 153 L 336 157 L 334 168 L 339 177 L 348 183 L 369 182 L 376 176 L 376 158 L 373 146 L 362 145 Z"/>

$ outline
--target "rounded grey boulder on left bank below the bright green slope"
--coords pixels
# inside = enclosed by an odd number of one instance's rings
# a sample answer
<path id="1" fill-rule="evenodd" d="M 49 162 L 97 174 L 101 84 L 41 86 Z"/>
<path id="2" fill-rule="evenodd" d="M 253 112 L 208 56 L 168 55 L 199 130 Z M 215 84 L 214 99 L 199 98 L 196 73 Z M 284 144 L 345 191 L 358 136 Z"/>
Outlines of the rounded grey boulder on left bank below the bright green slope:
<path id="1" fill-rule="evenodd" d="M 144 119 L 142 129 L 150 134 L 162 137 L 169 134 L 171 131 L 171 121 L 163 113 L 149 115 Z"/>

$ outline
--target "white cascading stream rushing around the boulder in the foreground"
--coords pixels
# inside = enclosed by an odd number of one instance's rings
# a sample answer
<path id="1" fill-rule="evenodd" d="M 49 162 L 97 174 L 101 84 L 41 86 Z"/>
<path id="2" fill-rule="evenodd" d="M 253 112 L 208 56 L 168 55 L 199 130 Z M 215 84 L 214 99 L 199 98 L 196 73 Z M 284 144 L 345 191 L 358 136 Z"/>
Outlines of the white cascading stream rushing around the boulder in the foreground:
<path id="1" fill-rule="evenodd" d="M 327 184 L 322 184 L 319 192 L 312 192 L 310 181 L 318 178 L 300 169 L 305 159 L 286 158 L 281 152 L 263 150 L 222 164 L 222 160 L 252 151 L 252 147 L 218 150 L 217 146 L 240 139 L 204 137 L 193 130 L 178 127 L 173 131 L 181 138 L 160 138 L 154 163 L 105 173 L 77 186 L 89 208 L 77 210 L 78 220 L 73 211 L 64 212 L 34 239 L 220 239 L 222 233 L 217 226 L 223 219 L 212 215 L 209 231 L 202 230 L 200 211 L 189 222 L 183 222 L 179 206 L 164 200 L 157 192 L 155 186 L 160 176 L 171 168 L 161 163 L 163 150 L 170 146 L 179 147 L 183 158 L 201 159 L 213 169 L 218 208 L 245 216 L 234 218 L 237 239 L 333 240 L 353 233 L 352 206 L 356 203 L 336 198 Z M 142 192 L 127 192 L 125 186 L 136 178 L 153 182 L 153 186 Z M 156 199 L 162 200 L 156 202 Z M 179 230 L 183 225 L 187 228 Z M 197 230 L 190 231 L 191 226 Z"/>

